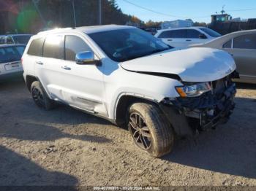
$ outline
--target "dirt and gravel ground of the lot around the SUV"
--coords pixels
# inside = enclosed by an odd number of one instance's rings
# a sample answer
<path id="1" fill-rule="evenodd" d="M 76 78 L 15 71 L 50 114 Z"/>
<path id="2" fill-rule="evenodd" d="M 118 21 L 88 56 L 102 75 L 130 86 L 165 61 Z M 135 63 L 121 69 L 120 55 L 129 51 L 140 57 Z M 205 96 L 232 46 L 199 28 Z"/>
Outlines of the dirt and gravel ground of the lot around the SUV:
<path id="1" fill-rule="evenodd" d="M 227 124 L 156 159 L 127 130 L 67 106 L 45 112 L 22 80 L 0 84 L 0 185 L 256 185 L 256 86 L 238 85 L 236 104 Z"/>

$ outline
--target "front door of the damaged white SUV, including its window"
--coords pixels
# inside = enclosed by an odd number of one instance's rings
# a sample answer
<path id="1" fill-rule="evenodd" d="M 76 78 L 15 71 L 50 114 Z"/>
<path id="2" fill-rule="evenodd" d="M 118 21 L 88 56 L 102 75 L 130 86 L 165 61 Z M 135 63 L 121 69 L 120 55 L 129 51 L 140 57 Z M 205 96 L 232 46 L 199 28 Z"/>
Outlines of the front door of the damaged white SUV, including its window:
<path id="1" fill-rule="evenodd" d="M 80 65 L 75 62 L 75 55 L 85 51 L 92 50 L 82 37 L 65 36 L 65 59 L 61 62 L 65 82 L 64 100 L 80 109 L 106 115 L 102 66 L 94 63 Z"/>

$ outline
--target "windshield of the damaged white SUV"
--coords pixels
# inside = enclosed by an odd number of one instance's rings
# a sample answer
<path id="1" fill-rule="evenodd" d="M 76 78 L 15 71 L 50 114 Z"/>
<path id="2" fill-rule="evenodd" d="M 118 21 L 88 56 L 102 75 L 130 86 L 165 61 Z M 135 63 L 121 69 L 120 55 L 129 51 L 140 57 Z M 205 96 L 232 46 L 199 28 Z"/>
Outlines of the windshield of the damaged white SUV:
<path id="1" fill-rule="evenodd" d="M 139 28 L 103 31 L 89 36 L 116 62 L 129 61 L 172 48 Z"/>

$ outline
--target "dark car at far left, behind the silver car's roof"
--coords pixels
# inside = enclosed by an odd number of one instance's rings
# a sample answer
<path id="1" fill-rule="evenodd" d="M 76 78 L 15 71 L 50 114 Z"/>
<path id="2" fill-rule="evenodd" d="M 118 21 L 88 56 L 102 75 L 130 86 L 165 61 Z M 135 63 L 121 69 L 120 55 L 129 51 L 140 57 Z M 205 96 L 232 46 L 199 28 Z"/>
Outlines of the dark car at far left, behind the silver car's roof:
<path id="1" fill-rule="evenodd" d="M 28 44 L 31 34 L 7 34 L 0 36 L 0 44 Z"/>

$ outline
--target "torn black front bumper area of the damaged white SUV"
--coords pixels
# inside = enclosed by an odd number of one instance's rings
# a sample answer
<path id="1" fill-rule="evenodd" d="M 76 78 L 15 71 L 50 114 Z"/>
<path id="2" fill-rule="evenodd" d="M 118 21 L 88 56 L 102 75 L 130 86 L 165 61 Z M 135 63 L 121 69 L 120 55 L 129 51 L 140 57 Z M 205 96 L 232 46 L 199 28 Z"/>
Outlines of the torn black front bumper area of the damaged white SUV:
<path id="1" fill-rule="evenodd" d="M 221 84 L 221 85 L 220 85 Z M 227 122 L 235 108 L 236 85 L 215 82 L 212 91 L 195 98 L 165 99 L 160 108 L 173 125 L 178 136 L 193 136 L 219 123 Z"/>

